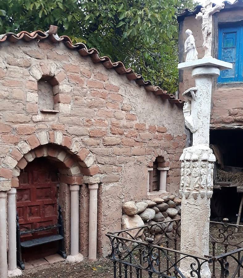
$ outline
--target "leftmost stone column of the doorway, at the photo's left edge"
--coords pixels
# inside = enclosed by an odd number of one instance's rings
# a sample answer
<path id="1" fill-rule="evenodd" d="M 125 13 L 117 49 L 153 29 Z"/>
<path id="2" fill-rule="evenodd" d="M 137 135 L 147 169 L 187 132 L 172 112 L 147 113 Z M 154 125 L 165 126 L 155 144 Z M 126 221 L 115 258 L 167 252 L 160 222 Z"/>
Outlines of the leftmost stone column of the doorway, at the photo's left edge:
<path id="1" fill-rule="evenodd" d="M 6 225 L 7 192 L 0 191 L 0 277 L 7 278 L 7 225 Z"/>

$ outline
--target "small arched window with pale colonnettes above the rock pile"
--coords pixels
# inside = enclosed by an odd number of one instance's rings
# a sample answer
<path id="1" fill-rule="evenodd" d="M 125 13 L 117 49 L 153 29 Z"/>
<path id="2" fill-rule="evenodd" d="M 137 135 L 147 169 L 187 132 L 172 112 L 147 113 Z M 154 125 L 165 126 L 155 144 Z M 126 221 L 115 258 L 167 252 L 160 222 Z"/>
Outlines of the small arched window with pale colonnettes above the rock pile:
<path id="1" fill-rule="evenodd" d="M 153 168 L 148 168 L 148 192 L 166 192 L 166 179 L 169 163 L 165 162 L 164 157 L 158 156 L 153 162 Z"/>

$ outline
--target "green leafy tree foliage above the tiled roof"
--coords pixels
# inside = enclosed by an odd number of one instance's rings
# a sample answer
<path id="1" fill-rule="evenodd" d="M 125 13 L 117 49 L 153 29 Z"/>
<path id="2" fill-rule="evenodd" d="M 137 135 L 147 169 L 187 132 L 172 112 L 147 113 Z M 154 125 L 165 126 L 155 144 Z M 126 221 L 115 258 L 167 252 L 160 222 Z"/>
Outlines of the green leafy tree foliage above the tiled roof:
<path id="1" fill-rule="evenodd" d="M 48 30 L 124 61 L 170 93 L 178 87 L 177 14 L 193 0 L 1 0 L 0 34 Z"/>

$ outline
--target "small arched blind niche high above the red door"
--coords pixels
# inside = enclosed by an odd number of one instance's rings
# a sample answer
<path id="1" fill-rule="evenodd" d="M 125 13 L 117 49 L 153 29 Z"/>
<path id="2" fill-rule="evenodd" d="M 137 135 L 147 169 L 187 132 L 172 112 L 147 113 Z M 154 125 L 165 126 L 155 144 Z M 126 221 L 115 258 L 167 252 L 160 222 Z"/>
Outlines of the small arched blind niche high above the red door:
<path id="1" fill-rule="evenodd" d="M 57 113 L 54 105 L 54 91 L 56 86 L 53 86 L 53 77 L 41 78 L 38 81 L 38 107 L 43 113 Z M 56 84 L 55 84 L 56 85 Z"/>

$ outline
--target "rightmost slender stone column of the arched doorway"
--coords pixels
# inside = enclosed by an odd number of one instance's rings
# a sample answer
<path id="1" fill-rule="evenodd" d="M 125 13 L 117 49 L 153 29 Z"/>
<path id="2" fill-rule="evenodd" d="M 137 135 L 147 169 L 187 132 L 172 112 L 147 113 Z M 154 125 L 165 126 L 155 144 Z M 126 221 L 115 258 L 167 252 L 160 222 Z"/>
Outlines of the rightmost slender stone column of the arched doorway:
<path id="1" fill-rule="evenodd" d="M 97 212 L 98 183 L 89 184 L 90 215 L 89 215 L 89 260 L 97 259 Z"/>

